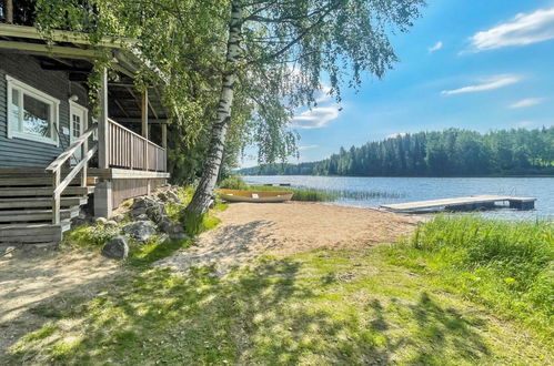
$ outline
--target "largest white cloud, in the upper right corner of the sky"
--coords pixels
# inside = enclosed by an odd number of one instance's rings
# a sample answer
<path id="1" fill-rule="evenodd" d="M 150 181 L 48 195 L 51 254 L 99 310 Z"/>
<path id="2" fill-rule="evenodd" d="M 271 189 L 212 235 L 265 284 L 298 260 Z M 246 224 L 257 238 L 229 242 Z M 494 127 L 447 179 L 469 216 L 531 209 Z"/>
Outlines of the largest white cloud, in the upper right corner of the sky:
<path id="1" fill-rule="evenodd" d="M 475 33 L 470 40 L 475 51 L 486 51 L 552 39 L 554 39 L 554 8 L 520 13 L 506 23 Z"/>

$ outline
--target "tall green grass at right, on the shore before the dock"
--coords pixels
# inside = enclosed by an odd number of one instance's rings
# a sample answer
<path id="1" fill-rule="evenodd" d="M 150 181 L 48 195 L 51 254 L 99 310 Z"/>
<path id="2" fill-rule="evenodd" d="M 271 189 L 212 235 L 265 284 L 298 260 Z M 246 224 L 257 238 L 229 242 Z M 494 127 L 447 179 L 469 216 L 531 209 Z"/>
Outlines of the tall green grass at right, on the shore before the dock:
<path id="1" fill-rule="evenodd" d="M 391 248 L 393 261 L 553 335 L 554 223 L 437 216 Z"/>

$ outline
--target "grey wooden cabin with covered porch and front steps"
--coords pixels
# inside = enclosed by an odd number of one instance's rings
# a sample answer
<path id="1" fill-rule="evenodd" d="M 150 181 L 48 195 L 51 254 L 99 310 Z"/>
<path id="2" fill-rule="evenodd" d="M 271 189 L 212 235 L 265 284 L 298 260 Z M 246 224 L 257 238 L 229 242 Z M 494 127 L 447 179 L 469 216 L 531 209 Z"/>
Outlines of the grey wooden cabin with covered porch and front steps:
<path id="1" fill-rule="evenodd" d="M 134 87 L 132 41 L 52 37 L 0 22 L 0 243 L 57 243 L 81 205 L 110 217 L 169 177 L 168 115 L 155 85 Z M 87 81 L 102 52 L 115 72 L 102 71 L 93 113 Z"/>

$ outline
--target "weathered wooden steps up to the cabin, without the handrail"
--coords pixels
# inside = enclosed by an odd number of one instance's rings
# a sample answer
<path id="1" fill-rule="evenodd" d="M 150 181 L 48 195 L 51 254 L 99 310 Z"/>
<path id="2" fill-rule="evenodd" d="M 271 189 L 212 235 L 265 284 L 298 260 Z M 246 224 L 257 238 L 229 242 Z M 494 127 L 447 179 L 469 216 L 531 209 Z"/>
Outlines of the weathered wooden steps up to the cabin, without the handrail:
<path id="1" fill-rule="evenodd" d="M 94 192 L 94 177 L 71 181 L 60 197 L 60 223 L 52 223 L 52 173 L 43 169 L 0 169 L 0 244 L 59 243 Z"/>

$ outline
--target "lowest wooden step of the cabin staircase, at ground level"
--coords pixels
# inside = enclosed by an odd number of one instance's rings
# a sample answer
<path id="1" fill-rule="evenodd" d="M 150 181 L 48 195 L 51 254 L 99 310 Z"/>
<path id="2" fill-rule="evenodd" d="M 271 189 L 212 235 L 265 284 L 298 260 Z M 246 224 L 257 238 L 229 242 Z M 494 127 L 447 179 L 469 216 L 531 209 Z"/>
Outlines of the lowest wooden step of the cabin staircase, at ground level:
<path id="1" fill-rule="evenodd" d="M 0 224 L 0 243 L 60 242 L 62 233 L 71 227 L 69 220 L 60 224 Z"/>

